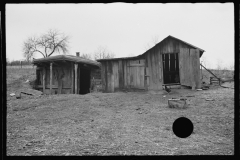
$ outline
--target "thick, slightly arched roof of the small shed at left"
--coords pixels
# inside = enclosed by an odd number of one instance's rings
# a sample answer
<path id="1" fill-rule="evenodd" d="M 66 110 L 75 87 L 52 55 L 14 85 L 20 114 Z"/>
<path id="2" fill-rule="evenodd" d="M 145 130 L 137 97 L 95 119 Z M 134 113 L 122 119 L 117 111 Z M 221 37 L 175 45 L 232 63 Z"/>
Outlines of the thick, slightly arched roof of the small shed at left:
<path id="1" fill-rule="evenodd" d="M 70 61 L 75 63 L 90 64 L 98 67 L 100 66 L 100 63 L 97 61 L 85 59 L 85 58 L 74 56 L 74 55 L 57 55 L 57 56 L 51 56 L 46 58 L 39 58 L 39 59 L 34 59 L 32 63 L 37 64 L 42 62 L 54 62 L 54 61 Z"/>

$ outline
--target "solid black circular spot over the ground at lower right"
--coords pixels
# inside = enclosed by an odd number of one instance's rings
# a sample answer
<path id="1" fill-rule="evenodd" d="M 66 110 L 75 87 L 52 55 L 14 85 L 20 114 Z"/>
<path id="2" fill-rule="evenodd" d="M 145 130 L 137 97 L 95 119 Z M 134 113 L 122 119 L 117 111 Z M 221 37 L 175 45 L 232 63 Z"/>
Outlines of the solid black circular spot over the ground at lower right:
<path id="1" fill-rule="evenodd" d="M 187 138 L 193 132 L 193 123 L 186 117 L 180 117 L 173 122 L 173 133 L 179 138 Z"/>

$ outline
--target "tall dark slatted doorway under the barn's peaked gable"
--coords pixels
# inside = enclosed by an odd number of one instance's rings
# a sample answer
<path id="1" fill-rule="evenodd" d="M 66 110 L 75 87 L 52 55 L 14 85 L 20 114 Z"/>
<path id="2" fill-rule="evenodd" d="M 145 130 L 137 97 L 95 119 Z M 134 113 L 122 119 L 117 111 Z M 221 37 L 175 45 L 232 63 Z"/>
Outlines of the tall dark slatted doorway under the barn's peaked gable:
<path id="1" fill-rule="evenodd" d="M 180 84 L 178 53 L 162 55 L 163 83 Z"/>

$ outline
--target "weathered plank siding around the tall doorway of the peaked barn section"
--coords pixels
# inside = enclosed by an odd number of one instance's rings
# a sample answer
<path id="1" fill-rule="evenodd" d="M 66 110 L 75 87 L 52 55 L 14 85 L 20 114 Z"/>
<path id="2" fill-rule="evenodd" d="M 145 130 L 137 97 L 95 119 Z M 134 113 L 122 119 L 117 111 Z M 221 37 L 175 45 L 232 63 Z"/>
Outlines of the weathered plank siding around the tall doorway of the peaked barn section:
<path id="1" fill-rule="evenodd" d="M 190 49 L 193 55 L 190 56 Z M 182 52 L 180 53 L 180 50 Z M 196 83 L 196 86 L 200 86 L 200 73 L 199 56 L 200 52 L 196 51 L 195 48 L 175 39 L 166 39 L 155 47 L 151 48 L 145 53 L 146 58 L 146 73 L 147 73 L 147 86 L 149 90 L 161 90 L 163 82 L 163 65 L 162 65 L 162 54 L 179 54 L 179 68 L 180 69 L 180 82 L 182 85 L 192 86 L 192 83 Z M 196 75 L 190 72 L 190 61 L 195 63 L 194 71 Z M 193 78 L 194 76 L 194 78 Z M 200 75 L 199 75 L 200 76 Z"/>

